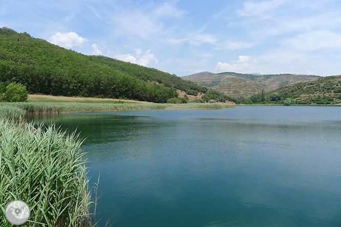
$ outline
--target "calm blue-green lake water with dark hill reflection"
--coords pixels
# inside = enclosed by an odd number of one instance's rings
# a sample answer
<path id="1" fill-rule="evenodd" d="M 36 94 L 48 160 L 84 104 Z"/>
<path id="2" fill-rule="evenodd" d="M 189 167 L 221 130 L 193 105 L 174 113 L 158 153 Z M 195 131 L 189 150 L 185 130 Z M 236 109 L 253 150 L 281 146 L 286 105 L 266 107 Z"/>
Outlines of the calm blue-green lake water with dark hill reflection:
<path id="1" fill-rule="evenodd" d="M 341 226 L 341 107 L 35 120 L 87 137 L 100 226 Z"/>

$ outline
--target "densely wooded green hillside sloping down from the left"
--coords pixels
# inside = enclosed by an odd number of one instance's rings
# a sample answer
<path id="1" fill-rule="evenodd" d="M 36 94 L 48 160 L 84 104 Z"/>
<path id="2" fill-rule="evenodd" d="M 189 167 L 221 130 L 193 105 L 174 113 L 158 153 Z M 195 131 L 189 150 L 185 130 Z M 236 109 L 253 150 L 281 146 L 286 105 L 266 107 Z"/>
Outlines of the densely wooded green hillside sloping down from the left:
<path id="1" fill-rule="evenodd" d="M 187 94 L 209 93 L 206 87 L 176 75 L 108 57 L 83 55 L 27 33 L 0 28 L 0 83 L 12 81 L 27 86 L 30 94 L 158 103 L 178 97 L 177 89 Z"/>

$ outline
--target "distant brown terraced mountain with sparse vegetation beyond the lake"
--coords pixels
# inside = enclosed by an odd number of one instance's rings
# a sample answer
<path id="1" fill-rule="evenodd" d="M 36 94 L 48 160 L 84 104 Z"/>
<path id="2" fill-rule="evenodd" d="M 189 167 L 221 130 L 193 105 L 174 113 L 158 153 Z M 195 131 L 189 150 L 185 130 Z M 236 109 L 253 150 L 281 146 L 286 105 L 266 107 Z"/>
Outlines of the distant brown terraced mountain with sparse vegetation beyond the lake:
<path id="1" fill-rule="evenodd" d="M 319 78 L 315 75 L 294 74 L 241 74 L 233 72 L 201 72 L 181 77 L 198 85 L 214 88 L 231 97 L 250 97 L 260 92 L 274 90 L 287 85 L 310 81 Z"/>

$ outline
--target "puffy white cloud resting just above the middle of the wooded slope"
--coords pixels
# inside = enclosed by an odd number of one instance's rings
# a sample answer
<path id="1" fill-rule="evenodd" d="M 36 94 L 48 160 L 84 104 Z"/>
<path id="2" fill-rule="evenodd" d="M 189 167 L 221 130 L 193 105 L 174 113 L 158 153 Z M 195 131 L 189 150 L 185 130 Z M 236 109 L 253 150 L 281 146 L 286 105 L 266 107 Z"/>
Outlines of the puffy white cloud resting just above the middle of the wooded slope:
<path id="1" fill-rule="evenodd" d="M 157 64 L 159 60 L 155 57 L 153 53 L 151 53 L 151 50 L 147 50 L 142 54 L 141 49 L 134 49 L 136 56 L 131 54 L 119 54 L 115 52 L 110 52 L 109 54 L 112 55 L 114 58 L 121 60 L 121 61 L 127 61 L 134 64 L 139 64 L 143 66 L 149 66 L 151 64 Z"/>

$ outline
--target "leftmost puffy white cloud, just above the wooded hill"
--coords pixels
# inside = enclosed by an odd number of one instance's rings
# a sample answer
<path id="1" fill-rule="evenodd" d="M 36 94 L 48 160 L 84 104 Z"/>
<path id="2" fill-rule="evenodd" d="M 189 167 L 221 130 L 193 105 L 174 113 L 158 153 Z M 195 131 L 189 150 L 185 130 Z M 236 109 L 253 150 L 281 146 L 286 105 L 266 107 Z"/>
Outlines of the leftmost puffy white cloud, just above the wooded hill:
<path id="1" fill-rule="evenodd" d="M 79 36 L 75 32 L 57 32 L 49 38 L 49 42 L 63 48 L 72 48 L 74 46 L 83 47 L 83 44 L 88 42 L 88 39 Z"/>

